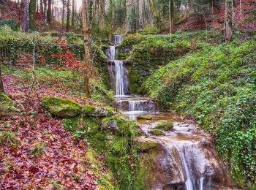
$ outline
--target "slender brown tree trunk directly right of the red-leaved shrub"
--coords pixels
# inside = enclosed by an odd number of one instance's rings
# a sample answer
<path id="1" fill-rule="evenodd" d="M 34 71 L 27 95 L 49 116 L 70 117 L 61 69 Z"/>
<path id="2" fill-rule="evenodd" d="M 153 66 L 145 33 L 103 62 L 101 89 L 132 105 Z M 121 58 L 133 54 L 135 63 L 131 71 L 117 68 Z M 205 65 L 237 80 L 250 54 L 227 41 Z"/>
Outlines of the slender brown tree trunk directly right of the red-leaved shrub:
<path id="1" fill-rule="evenodd" d="M 85 92 L 86 96 L 90 97 L 90 53 L 89 53 L 89 35 L 88 35 L 88 27 L 87 27 L 87 15 L 86 15 L 86 0 L 82 2 L 82 23 L 83 23 L 83 42 L 84 42 L 84 58 L 85 65 L 83 68 L 83 78 L 85 83 Z"/>

